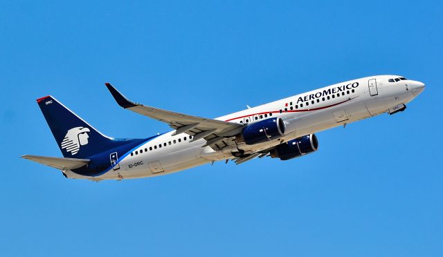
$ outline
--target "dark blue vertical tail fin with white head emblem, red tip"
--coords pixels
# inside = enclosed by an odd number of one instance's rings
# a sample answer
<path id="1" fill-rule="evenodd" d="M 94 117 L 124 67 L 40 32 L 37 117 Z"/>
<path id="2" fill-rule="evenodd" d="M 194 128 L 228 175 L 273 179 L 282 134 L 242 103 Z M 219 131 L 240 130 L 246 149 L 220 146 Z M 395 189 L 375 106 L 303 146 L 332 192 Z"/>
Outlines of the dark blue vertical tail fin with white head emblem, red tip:
<path id="1" fill-rule="evenodd" d="M 97 131 L 51 95 L 37 99 L 37 103 L 65 158 L 86 159 L 116 146 L 114 139 Z"/>

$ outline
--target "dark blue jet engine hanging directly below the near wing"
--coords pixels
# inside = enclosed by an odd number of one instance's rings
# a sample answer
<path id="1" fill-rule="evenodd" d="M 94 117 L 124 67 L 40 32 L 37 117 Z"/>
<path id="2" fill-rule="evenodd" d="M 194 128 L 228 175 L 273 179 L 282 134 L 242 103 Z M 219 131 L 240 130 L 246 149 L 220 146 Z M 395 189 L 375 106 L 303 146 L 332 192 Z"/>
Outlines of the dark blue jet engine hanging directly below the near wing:
<path id="1" fill-rule="evenodd" d="M 261 120 L 246 126 L 242 133 L 237 135 L 237 142 L 258 144 L 275 140 L 284 135 L 284 122 L 279 117 Z"/>

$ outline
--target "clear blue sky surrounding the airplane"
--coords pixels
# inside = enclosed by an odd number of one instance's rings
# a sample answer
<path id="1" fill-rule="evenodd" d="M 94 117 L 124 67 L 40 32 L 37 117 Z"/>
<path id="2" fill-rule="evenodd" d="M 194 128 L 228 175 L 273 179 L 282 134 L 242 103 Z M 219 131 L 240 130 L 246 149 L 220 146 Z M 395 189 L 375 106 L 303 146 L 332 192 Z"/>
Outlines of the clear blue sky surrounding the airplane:
<path id="1" fill-rule="evenodd" d="M 64 3 L 62 3 L 64 2 Z M 1 256 L 442 256 L 441 1 L 1 1 Z M 280 162 L 90 182 L 20 155 L 62 156 L 35 99 L 102 133 L 218 117 L 329 84 L 426 84 L 397 115 L 318 133 Z"/>

